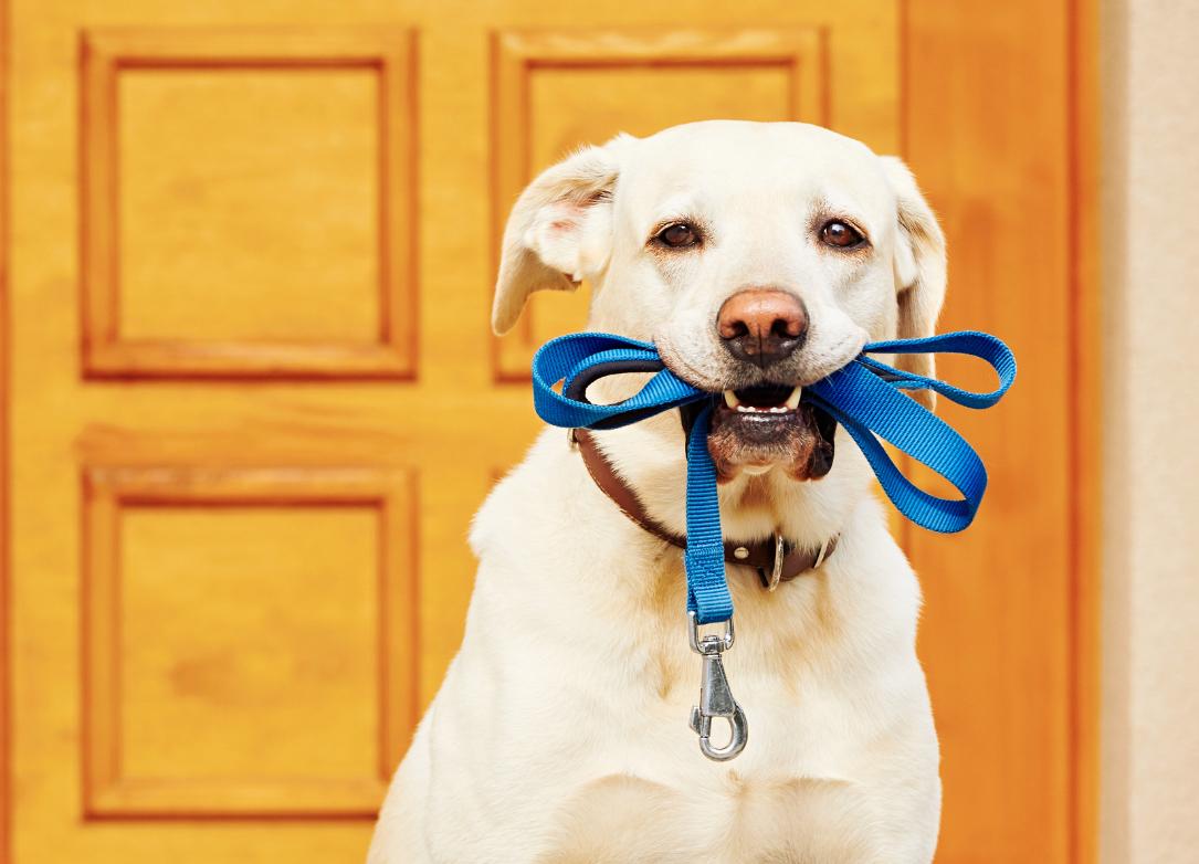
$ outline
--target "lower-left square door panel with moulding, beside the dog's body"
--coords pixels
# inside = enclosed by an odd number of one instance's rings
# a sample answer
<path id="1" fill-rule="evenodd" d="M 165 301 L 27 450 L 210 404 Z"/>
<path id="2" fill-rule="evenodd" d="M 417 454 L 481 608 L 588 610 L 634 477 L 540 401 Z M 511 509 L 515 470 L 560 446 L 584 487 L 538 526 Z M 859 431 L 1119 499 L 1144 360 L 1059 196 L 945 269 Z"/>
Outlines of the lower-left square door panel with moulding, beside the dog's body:
<path id="1" fill-rule="evenodd" d="M 84 808 L 369 815 L 416 718 L 409 472 L 91 467 Z"/>

